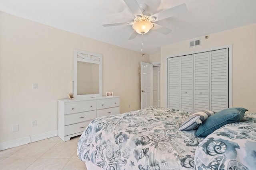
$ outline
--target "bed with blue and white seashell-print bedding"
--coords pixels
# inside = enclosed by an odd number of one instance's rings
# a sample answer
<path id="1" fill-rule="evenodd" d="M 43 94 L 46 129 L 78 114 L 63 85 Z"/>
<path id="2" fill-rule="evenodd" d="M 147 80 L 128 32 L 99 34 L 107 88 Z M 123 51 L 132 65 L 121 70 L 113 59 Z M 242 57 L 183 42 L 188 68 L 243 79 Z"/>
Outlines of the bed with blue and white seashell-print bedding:
<path id="1" fill-rule="evenodd" d="M 252 170 L 256 167 L 256 113 L 245 111 L 237 111 L 241 120 L 214 125 L 210 132 L 204 125 L 219 113 L 199 116 L 199 120 L 196 113 L 149 107 L 99 117 L 82 133 L 78 158 L 88 170 Z M 191 117 L 197 120 L 192 122 Z M 191 122 L 198 127 L 180 130 Z"/>

